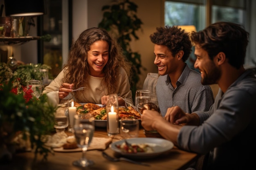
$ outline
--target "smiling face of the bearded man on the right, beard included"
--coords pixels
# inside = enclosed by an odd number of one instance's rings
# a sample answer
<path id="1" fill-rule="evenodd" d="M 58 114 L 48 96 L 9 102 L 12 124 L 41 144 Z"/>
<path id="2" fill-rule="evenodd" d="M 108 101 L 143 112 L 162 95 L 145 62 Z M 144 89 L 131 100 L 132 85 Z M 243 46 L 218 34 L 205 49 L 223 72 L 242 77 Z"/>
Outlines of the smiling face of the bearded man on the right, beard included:
<path id="1" fill-rule="evenodd" d="M 201 84 L 217 84 L 221 75 L 220 69 L 214 62 L 217 58 L 213 57 L 213 60 L 211 60 L 207 51 L 202 49 L 198 44 L 195 45 L 195 56 L 194 67 L 200 70 L 202 77 Z"/>

